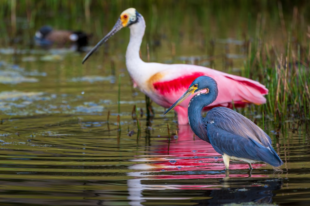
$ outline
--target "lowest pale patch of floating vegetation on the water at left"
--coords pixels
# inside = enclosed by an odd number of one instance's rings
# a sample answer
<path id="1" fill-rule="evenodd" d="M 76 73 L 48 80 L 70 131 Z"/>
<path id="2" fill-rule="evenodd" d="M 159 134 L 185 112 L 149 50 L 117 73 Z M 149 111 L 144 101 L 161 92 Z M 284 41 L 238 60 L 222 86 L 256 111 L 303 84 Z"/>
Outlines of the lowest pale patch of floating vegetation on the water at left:
<path id="1" fill-rule="evenodd" d="M 104 106 L 94 102 L 81 103 L 81 98 L 72 95 L 60 97 L 44 92 L 2 91 L 0 92 L 0 111 L 10 116 L 98 114 L 104 111 Z"/>

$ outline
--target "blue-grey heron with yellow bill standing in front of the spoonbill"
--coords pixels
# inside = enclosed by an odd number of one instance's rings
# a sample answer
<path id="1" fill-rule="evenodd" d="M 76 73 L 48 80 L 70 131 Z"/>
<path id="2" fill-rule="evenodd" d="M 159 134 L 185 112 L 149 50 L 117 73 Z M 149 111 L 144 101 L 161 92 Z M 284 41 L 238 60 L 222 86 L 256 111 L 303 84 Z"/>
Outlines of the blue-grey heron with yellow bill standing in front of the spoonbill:
<path id="1" fill-rule="evenodd" d="M 164 113 L 167 114 L 189 95 L 198 92 L 188 104 L 188 122 L 193 132 L 209 142 L 223 156 L 226 171 L 229 160 L 251 163 L 266 162 L 274 170 L 283 164 L 271 145 L 270 137 L 251 120 L 227 108 L 215 107 L 201 116 L 201 110 L 215 101 L 219 90 L 215 80 L 208 76 L 196 78 L 188 90 Z"/>

